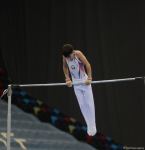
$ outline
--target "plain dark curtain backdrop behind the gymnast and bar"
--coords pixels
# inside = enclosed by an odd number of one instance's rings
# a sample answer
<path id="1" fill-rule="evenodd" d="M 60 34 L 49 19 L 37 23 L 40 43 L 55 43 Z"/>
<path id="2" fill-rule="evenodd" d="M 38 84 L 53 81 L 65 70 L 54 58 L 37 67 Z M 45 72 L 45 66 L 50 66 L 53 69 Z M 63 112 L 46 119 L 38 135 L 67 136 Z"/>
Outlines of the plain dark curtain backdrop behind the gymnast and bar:
<path id="1" fill-rule="evenodd" d="M 82 50 L 94 80 L 145 75 L 145 1 L 5 0 L 0 14 L 0 47 L 13 83 L 64 82 L 64 43 Z M 144 146 L 144 90 L 142 81 L 93 85 L 98 130 Z M 27 91 L 84 123 L 73 89 Z"/>

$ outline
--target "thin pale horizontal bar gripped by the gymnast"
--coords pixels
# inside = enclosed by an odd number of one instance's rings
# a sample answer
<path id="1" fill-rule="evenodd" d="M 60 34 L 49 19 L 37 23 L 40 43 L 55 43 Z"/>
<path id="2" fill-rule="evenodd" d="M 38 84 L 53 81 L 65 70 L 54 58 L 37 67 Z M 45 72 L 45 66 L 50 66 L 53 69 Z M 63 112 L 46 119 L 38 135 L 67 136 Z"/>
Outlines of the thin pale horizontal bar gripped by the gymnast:
<path id="1" fill-rule="evenodd" d="M 134 81 L 137 79 L 144 79 L 144 77 L 134 77 L 134 78 L 124 78 L 124 79 L 112 79 L 112 80 L 98 80 L 92 81 L 92 84 L 101 84 L 101 83 L 114 83 L 114 82 L 126 82 Z M 73 83 L 73 85 L 84 84 L 83 82 Z M 12 84 L 12 87 L 40 87 L 40 86 L 64 86 L 66 83 L 46 83 L 46 84 Z"/>

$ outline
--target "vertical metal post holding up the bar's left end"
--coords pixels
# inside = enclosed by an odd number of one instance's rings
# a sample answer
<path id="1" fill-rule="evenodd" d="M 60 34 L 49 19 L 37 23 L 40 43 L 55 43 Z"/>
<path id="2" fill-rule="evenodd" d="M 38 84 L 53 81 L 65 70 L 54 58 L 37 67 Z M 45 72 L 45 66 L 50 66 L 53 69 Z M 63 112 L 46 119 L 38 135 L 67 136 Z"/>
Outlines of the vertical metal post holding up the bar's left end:
<path id="1" fill-rule="evenodd" d="M 7 113 L 7 150 L 11 149 L 11 101 L 12 85 L 8 85 L 8 113 Z"/>

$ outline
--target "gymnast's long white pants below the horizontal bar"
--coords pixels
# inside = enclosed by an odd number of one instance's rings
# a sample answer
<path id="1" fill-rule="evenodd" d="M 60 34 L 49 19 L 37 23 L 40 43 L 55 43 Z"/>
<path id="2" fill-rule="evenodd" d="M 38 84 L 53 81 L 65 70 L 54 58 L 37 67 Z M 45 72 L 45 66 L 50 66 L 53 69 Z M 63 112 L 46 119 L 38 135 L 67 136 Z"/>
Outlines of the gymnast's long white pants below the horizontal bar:
<path id="1" fill-rule="evenodd" d="M 91 85 L 74 85 L 81 112 L 87 124 L 87 133 L 90 136 L 96 134 L 94 97 Z"/>

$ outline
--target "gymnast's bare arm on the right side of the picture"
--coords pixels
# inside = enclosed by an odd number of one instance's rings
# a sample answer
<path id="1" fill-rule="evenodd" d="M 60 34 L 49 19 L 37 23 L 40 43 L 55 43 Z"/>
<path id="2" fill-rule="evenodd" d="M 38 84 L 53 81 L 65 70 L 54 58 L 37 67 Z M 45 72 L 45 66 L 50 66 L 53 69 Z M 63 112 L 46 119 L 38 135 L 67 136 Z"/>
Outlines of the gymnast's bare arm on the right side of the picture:
<path id="1" fill-rule="evenodd" d="M 88 75 L 88 80 L 92 80 L 92 69 L 89 61 L 87 58 L 84 56 L 84 54 L 81 51 L 76 51 L 76 56 L 82 61 L 82 63 L 86 67 L 87 75 Z"/>

